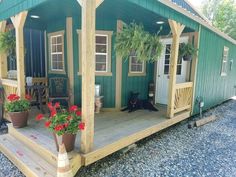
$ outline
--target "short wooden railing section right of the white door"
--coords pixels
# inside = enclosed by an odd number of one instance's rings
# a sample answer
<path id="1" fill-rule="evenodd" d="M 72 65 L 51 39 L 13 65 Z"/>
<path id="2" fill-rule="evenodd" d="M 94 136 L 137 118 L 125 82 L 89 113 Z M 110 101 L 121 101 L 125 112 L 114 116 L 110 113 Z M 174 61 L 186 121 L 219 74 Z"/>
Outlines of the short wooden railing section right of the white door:
<path id="1" fill-rule="evenodd" d="M 174 113 L 191 109 L 193 82 L 176 84 Z"/>

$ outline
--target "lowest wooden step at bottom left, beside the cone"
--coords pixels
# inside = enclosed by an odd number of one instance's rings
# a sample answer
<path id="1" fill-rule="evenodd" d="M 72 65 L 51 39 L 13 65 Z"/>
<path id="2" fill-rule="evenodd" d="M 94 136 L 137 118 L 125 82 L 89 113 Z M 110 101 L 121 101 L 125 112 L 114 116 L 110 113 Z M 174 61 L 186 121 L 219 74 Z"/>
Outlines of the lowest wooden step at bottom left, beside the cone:
<path id="1" fill-rule="evenodd" d="M 0 150 L 27 177 L 55 177 L 57 174 L 56 166 L 9 134 L 0 136 Z"/>

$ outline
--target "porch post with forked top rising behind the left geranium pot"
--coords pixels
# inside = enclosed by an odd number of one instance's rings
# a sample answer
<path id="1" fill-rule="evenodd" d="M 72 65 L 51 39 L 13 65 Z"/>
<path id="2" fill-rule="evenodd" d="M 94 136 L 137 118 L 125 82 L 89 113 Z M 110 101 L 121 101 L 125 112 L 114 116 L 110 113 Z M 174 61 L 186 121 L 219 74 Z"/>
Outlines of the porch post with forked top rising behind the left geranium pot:
<path id="1" fill-rule="evenodd" d="M 25 96 L 24 24 L 27 14 L 28 12 L 24 11 L 11 17 L 16 33 L 17 90 L 20 97 Z"/>

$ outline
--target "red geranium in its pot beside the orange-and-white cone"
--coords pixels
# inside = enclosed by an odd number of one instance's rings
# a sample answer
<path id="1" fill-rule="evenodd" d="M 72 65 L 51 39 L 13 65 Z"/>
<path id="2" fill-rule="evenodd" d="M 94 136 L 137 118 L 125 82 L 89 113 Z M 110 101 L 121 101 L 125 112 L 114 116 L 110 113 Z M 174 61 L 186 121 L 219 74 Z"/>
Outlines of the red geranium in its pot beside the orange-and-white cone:
<path id="1" fill-rule="evenodd" d="M 81 122 L 81 112 L 75 105 L 67 111 L 58 102 L 54 105 L 48 103 L 48 108 L 50 115 L 47 117 L 39 114 L 36 120 L 45 120 L 45 127 L 53 133 L 57 150 L 59 150 L 59 144 L 64 143 L 66 151 L 72 151 L 75 146 L 77 132 L 85 128 L 85 124 Z"/>

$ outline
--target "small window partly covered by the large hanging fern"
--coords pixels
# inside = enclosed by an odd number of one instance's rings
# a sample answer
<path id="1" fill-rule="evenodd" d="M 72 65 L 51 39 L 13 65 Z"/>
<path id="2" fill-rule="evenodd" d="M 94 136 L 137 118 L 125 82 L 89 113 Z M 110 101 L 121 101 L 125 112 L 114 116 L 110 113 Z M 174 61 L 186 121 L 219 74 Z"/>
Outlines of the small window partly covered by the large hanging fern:
<path id="1" fill-rule="evenodd" d="M 143 74 L 145 72 L 145 62 L 137 60 L 136 56 L 130 56 L 129 73 Z"/>

